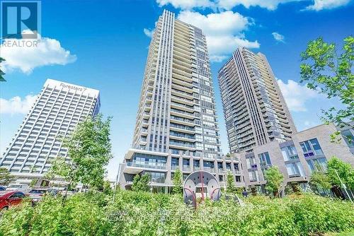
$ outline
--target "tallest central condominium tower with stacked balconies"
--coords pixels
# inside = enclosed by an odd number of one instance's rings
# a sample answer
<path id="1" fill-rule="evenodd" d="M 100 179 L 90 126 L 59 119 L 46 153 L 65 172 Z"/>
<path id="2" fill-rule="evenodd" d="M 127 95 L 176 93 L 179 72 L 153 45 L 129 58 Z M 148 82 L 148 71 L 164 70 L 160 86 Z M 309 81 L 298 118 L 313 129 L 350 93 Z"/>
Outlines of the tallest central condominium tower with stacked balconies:
<path id="1" fill-rule="evenodd" d="M 215 167 L 222 172 L 226 165 L 222 158 L 205 35 L 164 11 L 149 46 L 120 184 L 129 187 L 134 175 L 147 172 L 153 185 L 171 186 L 177 168 L 184 177 L 200 169 L 217 175 Z"/>

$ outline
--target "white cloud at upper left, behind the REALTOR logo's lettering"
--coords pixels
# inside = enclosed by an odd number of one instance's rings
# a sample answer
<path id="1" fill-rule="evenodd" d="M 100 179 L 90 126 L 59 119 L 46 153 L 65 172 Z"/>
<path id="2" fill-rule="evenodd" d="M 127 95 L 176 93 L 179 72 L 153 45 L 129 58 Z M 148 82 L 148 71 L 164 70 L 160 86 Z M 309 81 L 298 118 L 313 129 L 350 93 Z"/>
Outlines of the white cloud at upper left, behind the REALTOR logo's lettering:
<path id="1" fill-rule="evenodd" d="M 76 61 L 76 56 L 70 54 L 67 49 L 62 48 L 60 42 L 48 37 L 40 37 L 36 40 L 6 39 L 0 45 L 1 57 L 4 71 L 20 69 L 23 73 L 31 73 L 33 69 L 48 65 L 65 65 Z M 32 47 L 18 47 L 16 45 L 30 45 Z M 33 45 L 37 43 L 37 45 Z"/>

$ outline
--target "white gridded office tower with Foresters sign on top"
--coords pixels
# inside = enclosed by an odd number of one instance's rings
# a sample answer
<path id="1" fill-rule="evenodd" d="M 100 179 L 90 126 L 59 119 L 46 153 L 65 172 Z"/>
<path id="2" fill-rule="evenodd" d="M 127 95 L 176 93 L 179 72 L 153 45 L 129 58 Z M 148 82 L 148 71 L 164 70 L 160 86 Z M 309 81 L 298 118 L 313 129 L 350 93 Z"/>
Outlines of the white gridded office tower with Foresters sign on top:
<path id="1" fill-rule="evenodd" d="M 98 113 L 99 91 L 48 79 L 0 159 L 16 177 L 42 177 L 57 155 L 66 156 L 60 137 Z"/>

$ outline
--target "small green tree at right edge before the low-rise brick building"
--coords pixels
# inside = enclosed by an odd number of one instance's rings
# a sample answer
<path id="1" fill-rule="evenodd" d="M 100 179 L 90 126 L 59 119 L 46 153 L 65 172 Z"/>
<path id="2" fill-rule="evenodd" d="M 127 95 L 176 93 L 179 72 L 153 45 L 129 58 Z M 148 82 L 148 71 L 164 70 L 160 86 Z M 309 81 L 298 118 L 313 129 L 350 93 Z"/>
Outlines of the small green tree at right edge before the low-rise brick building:
<path id="1" fill-rule="evenodd" d="M 343 162 L 338 158 L 331 158 L 327 163 L 327 175 L 331 180 L 331 184 L 341 187 L 341 182 L 336 174 L 338 173 L 342 182 L 346 184 L 348 189 L 354 189 L 354 168 L 350 164 Z"/>

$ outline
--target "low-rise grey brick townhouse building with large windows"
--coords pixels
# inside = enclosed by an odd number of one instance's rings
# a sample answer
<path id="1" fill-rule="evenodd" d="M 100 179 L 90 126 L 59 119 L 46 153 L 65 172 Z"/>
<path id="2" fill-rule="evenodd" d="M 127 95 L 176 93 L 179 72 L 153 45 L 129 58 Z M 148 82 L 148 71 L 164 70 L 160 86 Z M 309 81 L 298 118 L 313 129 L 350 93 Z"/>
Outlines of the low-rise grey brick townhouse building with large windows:
<path id="1" fill-rule="evenodd" d="M 330 135 L 336 130 L 339 129 L 333 124 L 322 124 L 292 134 L 285 142 L 271 141 L 249 153 L 234 153 L 241 160 L 245 186 L 264 193 L 264 172 L 270 166 L 277 166 L 282 172 L 282 189 L 285 186 L 306 188 L 312 172 L 326 171 L 326 163 L 333 156 L 354 167 L 353 145 L 344 137 L 351 134 L 353 138 L 353 129 L 343 130 L 341 140 L 333 142 Z"/>

